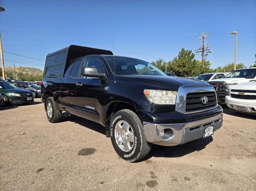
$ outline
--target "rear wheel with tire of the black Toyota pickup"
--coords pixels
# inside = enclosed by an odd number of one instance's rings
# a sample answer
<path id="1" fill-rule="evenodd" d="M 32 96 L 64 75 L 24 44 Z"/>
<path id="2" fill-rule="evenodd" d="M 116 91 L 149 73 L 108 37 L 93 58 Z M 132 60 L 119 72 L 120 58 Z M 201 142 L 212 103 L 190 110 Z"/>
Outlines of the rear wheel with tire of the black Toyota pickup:
<path id="1" fill-rule="evenodd" d="M 53 97 L 48 97 L 45 102 L 45 110 L 48 121 L 51 123 L 56 123 L 60 121 L 61 112 L 57 109 Z"/>

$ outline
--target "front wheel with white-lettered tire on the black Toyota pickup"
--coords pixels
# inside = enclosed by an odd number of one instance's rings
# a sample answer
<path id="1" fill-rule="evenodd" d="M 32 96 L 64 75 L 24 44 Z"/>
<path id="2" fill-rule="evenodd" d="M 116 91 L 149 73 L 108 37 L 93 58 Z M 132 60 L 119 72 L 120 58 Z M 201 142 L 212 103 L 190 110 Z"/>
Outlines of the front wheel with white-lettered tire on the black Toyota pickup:
<path id="1" fill-rule="evenodd" d="M 110 137 L 118 156 L 128 162 L 146 157 L 151 150 L 151 144 L 146 141 L 140 118 L 128 109 L 120 110 L 112 117 Z"/>

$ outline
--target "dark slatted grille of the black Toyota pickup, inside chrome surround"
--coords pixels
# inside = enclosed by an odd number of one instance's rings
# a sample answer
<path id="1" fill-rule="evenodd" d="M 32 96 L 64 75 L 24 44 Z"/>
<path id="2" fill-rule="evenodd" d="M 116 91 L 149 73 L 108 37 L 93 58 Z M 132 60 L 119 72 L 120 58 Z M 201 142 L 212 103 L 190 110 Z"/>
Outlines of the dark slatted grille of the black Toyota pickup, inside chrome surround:
<path id="1" fill-rule="evenodd" d="M 207 102 L 203 102 L 206 98 Z M 188 93 L 186 96 L 186 112 L 195 112 L 209 109 L 217 105 L 215 92 Z"/>

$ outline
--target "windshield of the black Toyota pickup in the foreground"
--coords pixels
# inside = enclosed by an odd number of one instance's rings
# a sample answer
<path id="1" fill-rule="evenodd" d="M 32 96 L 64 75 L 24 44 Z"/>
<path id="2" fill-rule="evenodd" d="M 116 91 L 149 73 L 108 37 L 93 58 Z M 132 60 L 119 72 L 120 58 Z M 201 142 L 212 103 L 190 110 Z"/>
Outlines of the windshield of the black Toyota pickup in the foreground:
<path id="1" fill-rule="evenodd" d="M 120 56 L 104 56 L 112 72 L 116 75 L 162 75 L 164 72 L 149 62 Z M 114 66 L 115 63 L 115 66 Z"/>

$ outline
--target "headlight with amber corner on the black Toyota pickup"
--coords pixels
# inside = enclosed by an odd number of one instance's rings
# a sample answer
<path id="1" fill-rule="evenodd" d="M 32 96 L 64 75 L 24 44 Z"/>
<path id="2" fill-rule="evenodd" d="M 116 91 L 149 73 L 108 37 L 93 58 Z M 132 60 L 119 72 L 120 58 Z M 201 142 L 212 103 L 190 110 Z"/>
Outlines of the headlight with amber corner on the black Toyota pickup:
<path id="1" fill-rule="evenodd" d="M 148 100 L 154 104 L 174 105 L 176 103 L 176 91 L 145 89 L 144 94 L 146 95 Z"/>

